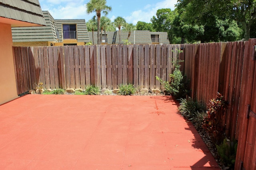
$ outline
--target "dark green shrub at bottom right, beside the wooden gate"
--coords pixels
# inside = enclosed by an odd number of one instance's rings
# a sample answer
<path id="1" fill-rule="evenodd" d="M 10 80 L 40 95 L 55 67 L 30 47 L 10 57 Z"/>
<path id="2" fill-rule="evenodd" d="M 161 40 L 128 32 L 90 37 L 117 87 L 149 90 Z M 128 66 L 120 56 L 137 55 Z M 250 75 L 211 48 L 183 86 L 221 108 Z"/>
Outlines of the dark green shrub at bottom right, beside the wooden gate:
<path id="1" fill-rule="evenodd" d="M 225 166 L 234 168 L 236 160 L 237 141 L 224 139 L 220 145 L 216 145 L 220 160 Z"/>

